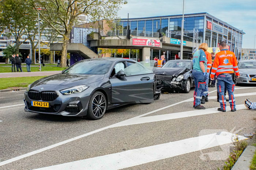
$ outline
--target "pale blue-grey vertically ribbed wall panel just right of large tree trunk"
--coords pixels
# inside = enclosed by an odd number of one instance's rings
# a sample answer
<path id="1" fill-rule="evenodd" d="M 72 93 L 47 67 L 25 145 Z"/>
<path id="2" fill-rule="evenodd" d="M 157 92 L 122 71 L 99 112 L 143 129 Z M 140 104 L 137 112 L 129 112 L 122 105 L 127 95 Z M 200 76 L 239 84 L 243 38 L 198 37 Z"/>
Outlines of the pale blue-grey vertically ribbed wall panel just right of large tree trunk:
<path id="1" fill-rule="evenodd" d="M 73 27 L 70 33 L 70 42 L 71 43 L 81 43 L 84 46 L 87 46 L 87 35 L 91 32 L 98 32 L 96 28 L 81 28 Z"/>

